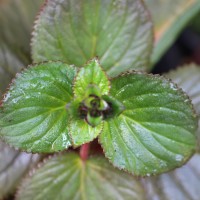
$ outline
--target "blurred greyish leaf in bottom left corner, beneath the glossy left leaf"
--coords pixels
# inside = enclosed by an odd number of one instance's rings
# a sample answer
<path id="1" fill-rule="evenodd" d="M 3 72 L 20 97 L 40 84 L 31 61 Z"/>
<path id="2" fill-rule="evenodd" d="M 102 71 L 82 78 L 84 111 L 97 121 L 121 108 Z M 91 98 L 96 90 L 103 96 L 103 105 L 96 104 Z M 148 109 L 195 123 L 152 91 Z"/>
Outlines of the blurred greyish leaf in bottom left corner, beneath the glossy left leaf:
<path id="1" fill-rule="evenodd" d="M 0 141 L 0 199 L 14 192 L 21 178 L 38 160 L 38 155 L 20 153 Z"/>

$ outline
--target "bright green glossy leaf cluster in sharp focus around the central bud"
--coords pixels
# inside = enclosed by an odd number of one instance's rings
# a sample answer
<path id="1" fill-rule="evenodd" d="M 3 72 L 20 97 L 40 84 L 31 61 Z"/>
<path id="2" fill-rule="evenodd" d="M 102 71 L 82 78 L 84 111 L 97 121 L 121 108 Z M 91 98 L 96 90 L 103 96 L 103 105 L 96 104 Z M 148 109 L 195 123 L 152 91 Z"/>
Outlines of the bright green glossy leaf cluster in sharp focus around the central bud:
<path id="1" fill-rule="evenodd" d="M 139 72 L 108 79 L 97 59 L 18 74 L 1 107 L 1 135 L 28 152 L 56 152 L 99 137 L 106 157 L 135 175 L 183 165 L 196 148 L 197 118 L 173 83 Z"/>

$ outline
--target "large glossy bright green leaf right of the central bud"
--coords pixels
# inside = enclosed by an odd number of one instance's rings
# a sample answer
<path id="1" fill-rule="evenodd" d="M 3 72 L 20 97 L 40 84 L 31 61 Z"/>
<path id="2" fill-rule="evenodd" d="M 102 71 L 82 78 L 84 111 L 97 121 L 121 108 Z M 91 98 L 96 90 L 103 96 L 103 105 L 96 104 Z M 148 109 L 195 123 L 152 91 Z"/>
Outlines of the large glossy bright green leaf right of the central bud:
<path id="1" fill-rule="evenodd" d="M 104 122 L 100 143 L 114 166 L 135 175 L 160 174 L 185 163 L 195 150 L 197 119 L 188 97 L 159 76 L 127 74 L 110 94 L 125 110 Z"/>

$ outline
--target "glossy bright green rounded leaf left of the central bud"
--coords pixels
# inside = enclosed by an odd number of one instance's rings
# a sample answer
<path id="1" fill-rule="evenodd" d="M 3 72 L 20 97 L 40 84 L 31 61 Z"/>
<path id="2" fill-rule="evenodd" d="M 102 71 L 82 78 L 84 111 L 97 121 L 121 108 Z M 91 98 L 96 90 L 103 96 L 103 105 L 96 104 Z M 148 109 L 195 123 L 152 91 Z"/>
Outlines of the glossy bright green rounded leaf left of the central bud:
<path id="1" fill-rule="evenodd" d="M 5 95 L 0 113 L 4 140 L 28 152 L 55 152 L 71 143 L 69 113 L 76 68 L 41 63 L 19 74 Z"/>

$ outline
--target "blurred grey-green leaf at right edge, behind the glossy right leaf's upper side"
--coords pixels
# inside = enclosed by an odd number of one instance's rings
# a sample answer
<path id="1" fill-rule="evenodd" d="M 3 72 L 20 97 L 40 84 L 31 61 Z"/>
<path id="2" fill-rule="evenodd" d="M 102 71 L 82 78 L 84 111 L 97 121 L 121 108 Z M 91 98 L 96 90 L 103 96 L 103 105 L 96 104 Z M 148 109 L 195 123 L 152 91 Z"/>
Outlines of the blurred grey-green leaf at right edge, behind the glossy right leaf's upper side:
<path id="1" fill-rule="evenodd" d="M 200 151 L 200 67 L 195 64 L 185 65 L 166 75 L 177 83 L 192 100 L 199 117 L 198 150 Z"/>

